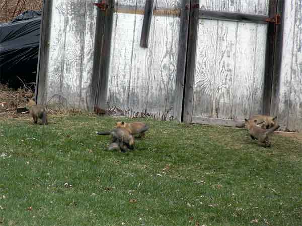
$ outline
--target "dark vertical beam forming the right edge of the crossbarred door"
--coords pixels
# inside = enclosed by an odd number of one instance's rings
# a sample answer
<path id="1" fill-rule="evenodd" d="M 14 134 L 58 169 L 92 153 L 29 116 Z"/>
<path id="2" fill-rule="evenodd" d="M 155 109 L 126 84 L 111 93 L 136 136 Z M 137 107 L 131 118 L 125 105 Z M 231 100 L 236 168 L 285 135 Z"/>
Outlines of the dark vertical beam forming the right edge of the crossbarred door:
<path id="1" fill-rule="evenodd" d="M 274 18 L 275 15 L 277 14 L 277 3 L 278 0 L 270 0 L 269 18 Z M 275 23 L 270 22 L 268 23 L 268 27 L 267 27 L 264 92 L 263 92 L 263 106 L 262 106 L 262 114 L 264 115 L 269 115 L 270 108 L 271 108 L 276 26 L 277 25 Z"/>

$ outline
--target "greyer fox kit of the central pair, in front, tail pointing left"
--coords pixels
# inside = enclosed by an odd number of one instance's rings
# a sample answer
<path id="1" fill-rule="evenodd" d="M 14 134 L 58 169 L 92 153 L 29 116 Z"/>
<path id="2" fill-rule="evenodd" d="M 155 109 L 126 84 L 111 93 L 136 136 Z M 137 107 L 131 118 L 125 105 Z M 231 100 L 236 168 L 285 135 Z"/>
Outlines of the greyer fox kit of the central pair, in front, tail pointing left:
<path id="1" fill-rule="evenodd" d="M 126 152 L 128 149 L 134 148 L 134 138 L 125 129 L 113 129 L 111 131 L 97 132 L 98 135 L 112 135 L 112 142 L 108 150 L 120 149 L 121 152 Z"/>

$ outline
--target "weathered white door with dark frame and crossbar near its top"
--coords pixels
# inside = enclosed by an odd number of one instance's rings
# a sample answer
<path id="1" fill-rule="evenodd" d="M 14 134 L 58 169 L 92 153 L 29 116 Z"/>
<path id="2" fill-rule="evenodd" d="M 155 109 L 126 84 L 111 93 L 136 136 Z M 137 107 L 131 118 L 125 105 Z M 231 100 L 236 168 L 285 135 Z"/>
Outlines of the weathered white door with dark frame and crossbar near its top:
<path id="1" fill-rule="evenodd" d="M 185 122 L 236 126 L 233 119 L 266 111 L 271 93 L 267 64 L 273 51 L 268 33 L 276 4 L 276 0 L 191 1 Z"/>

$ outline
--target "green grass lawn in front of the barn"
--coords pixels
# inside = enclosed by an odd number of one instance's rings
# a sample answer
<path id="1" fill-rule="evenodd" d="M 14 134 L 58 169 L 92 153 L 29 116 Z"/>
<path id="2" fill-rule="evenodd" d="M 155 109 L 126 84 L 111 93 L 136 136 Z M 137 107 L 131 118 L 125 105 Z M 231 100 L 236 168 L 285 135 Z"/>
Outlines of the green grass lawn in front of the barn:
<path id="1" fill-rule="evenodd" d="M 120 153 L 95 134 L 117 118 L 0 120 L 0 225 L 302 225 L 299 141 L 144 120 Z"/>

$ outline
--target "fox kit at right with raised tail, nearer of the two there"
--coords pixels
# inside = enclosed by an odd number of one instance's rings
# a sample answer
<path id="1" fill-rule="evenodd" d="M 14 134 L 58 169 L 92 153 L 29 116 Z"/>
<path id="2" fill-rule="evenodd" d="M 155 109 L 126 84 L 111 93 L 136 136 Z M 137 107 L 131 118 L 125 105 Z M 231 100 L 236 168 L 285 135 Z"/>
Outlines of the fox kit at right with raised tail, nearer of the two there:
<path id="1" fill-rule="evenodd" d="M 280 126 L 274 125 L 272 128 L 265 130 L 257 126 L 257 120 L 247 120 L 245 119 L 246 128 L 249 130 L 251 138 L 253 140 L 258 140 L 258 144 L 263 147 L 270 147 L 270 142 L 268 141 L 268 135 L 277 130 Z"/>

